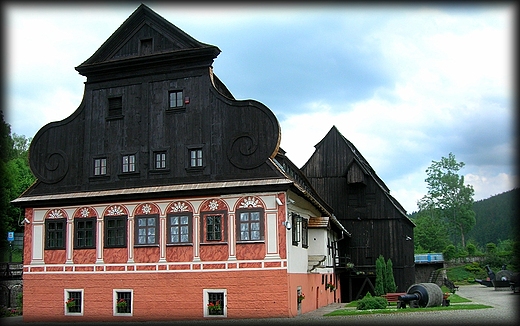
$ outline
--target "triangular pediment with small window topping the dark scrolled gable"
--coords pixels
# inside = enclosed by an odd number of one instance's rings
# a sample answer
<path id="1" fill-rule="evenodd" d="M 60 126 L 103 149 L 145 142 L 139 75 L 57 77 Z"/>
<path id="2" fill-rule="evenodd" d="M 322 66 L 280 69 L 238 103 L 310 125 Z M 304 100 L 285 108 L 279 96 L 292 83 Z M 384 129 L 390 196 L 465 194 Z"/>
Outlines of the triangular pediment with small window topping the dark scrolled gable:
<path id="1" fill-rule="evenodd" d="M 219 53 L 218 47 L 197 41 L 141 4 L 76 70 L 87 82 L 99 81 L 114 78 L 114 72 L 122 77 L 149 74 L 165 66 L 209 66 Z"/>

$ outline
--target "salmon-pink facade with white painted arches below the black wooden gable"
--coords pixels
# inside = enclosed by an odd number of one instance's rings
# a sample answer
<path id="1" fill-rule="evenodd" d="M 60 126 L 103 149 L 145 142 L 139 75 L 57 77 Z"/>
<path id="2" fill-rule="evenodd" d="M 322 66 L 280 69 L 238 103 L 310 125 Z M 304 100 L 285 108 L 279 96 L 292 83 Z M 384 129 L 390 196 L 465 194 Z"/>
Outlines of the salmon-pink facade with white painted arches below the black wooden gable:
<path id="1" fill-rule="evenodd" d="M 291 231 L 282 224 L 288 209 L 285 198 L 286 193 L 263 193 L 226 196 L 225 199 L 188 198 L 169 202 L 27 209 L 26 217 L 31 223 L 25 228 L 25 239 L 32 245 L 26 245 L 24 253 L 27 262 L 24 266 L 24 320 L 293 317 L 339 302 L 339 291 L 326 288 L 330 280 L 337 285 L 330 268 L 313 273 L 289 271 L 293 262 L 286 248 L 293 244 Z M 165 220 L 178 203 L 193 213 L 193 238 L 187 244 L 171 245 L 165 241 Z M 213 206 L 209 206 L 210 203 Z M 139 208 L 145 205 L 148 207 L 145 215 L 159 215 L 161 240 L 157 245 L 139 247 L 130 234 L 135 216 L 142 213 Z M 265 214 L 262 218 L 263 240 L 238 241 L 236 211 L 256 208 Z M 205 241 L 204 231 L 197 229 L 203 224 L 201 216 L 212 209 L 228 216 L 222 242 Z M 113 214 L 108 213 L 111 210 L 121 215 L 129 214 L 126 248 L 103 248 L 103 214 Z M 96 218 L 95 241 L 99 245 L 96 248 L 74 249 L 74 221 L 89 217 L 89 214 L 78 214 L 79 211 L 89 211 Z M 45 247 L 45 221 L 57 217 L 66 219 L 66 247 L 41 252 Z M 327 232 L 323 229 L 324 236 Z M 114 291 L 119 290 L 131 293 L 129 313 L 117 313 Z M 224 310 L 220 315 L 208 315 L 205 294 L 211 291 L 224 294 Z M 80 312 L 68 311 L 69 292 L 81 293 Z M 298 293 L 303 293 L 305 299 L 298 302 Z"/>

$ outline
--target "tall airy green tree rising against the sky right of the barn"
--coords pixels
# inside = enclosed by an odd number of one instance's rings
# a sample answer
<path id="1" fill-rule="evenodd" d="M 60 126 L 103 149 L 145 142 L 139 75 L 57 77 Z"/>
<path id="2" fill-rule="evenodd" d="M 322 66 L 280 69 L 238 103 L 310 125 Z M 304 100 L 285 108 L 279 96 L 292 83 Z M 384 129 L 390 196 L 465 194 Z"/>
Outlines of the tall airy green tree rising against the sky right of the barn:
<path id="1" fill-rule="evenodd" d="M 465 185 L 464 176 L 458 174 L 464 165 L 457 162 L 453 153 L 440 161 L 432 161 L 426 169 L 428 193 L 417 203 L 420 210 L 435 211 L 449 230 L 460 236 L 462 247 L 466 247 L 465 234 L 475 225 L 474 190 L 471 185 Z"/>

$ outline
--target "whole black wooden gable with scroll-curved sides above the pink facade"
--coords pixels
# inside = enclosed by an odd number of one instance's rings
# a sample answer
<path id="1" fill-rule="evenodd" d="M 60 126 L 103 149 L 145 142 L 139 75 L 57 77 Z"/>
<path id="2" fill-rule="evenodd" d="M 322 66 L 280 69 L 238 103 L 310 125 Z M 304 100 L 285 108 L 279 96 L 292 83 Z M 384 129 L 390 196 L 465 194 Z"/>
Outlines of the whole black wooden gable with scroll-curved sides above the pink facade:
<path id="1" fill-rule="evenodd" d="M 35 135 L 29 159 L 38 180 L 22 197 L 284 178 L 272 161 L 278 120 L 260 102 L 234 99 L 213 74 L 219 53 L 139 6 L 76 67 L 87 77 L 83 100 Z M 170 93 L 179 107 L 170 107 Z M 192 150 L 202 151 L 201 166 L 190 165 Z M 165 154 L 161 169 L 157 153 Z M 103 175 L 94 172 L 99 159 Z"/>

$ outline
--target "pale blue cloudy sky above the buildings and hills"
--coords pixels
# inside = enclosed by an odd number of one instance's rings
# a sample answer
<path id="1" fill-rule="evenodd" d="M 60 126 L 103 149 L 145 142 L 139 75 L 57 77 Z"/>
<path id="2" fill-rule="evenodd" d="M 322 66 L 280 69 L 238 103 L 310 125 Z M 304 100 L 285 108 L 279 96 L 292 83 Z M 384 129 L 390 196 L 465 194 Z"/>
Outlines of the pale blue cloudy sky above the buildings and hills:
<path id="1" fill-rule="evenodd" d="M 476 201 L 517 186 L 514 4 L 143 3 L 222 51 L 214 73 L 274 112 L 298 167 L 336 126 L 408 213 L 449 153 Z M 86 78 L 74 68 L 139 4 L 3 3 L 12 134 L 78 108 Z"/>

